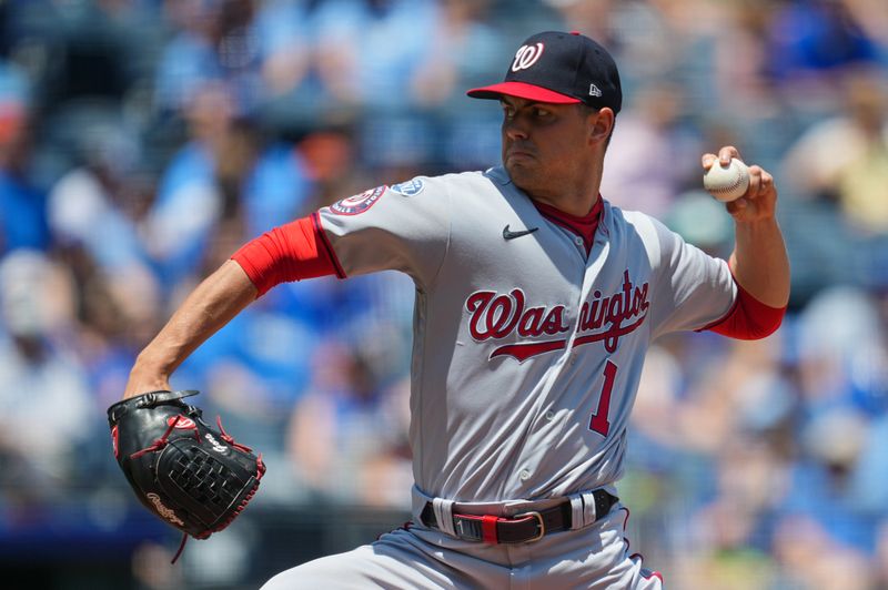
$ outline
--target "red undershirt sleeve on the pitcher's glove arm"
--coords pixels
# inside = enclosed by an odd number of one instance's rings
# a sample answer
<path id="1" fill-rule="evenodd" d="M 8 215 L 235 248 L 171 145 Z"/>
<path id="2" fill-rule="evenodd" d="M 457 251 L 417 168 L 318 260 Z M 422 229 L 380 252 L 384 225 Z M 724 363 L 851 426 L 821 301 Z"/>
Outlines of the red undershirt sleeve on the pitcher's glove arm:
<path id="1" fill-rule="evenodd" d="M 325 275 L 345 278 L 317 213 L 265 232 L 241 246 L 231 260 L 253 282 L 256 297 L 290 281 Z"/>

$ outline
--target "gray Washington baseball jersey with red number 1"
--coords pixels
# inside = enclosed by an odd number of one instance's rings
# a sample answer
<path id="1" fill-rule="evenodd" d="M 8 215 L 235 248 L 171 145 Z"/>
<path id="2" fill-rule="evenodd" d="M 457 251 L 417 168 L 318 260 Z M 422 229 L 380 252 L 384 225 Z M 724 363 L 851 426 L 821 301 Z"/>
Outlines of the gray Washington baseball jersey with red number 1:
<path id="1" fill-rule="evenodd" d="M 588 255 L 502 167 L 417 177 L 321 211 L 346 275 L 416 285 L 417 496 L 564 497 L 619 479 L 650 342 L 724 316 L 727 263 L 605 202 Z"/>

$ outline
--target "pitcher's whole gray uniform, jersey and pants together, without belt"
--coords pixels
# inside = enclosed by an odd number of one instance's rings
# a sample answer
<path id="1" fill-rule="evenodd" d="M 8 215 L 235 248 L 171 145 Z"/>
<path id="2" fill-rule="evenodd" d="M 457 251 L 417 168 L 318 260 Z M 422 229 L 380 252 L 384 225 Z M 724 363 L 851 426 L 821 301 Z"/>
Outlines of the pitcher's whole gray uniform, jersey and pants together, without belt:
<path id="1" fill-rule="evenodd" d="M 606 202 L 588 254 L 501 167 L 381 186 L 321 211 L 345 275 L 416 285 L 411 394 L 417 525 L 272 578 L 289 588 L 662 588 L 625 541 L 619 479 L 650 340 L 724 316 L 724 261 Z M 615 491 L 615 490 L 614 490 Z M 569 497 L 569 531 L 454 538 L 451 513 L 513 517 Z M 420 517 L 432 502 L 441 530 Z M 458 502 L 454 505 L 453 502 Z"/>

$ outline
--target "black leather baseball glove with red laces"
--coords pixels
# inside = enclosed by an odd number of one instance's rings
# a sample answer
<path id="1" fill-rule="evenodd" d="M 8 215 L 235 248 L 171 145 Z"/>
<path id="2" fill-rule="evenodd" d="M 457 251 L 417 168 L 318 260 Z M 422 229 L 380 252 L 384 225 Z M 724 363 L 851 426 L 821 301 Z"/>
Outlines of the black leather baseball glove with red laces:
<path id="1" fill-rule="evenodd" d="M 235 442 L 221 419 L 216 430 L 182 401 L 196 394 L 151 391 L 108 408 L 114 457 L 139 500 L 185 533 L 180 553 L 189 535 L 205 539 L 228 527 L 265 472 L 262 455 Z"/>

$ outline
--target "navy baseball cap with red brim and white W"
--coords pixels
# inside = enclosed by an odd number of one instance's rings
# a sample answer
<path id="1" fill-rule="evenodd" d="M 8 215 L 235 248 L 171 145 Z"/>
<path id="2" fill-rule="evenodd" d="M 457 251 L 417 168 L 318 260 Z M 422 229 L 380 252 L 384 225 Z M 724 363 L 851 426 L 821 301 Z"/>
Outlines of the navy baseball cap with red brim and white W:
<path id="1" fill-rule="evenodd" d="M 498 84 L 474 88 L 473 99 L 506 94 L 557 104 L 584 103 L 595 109 L 623 105 L 619 72 L 602 45 L 578 32 L 546 31 L 528 38 Z"/>

